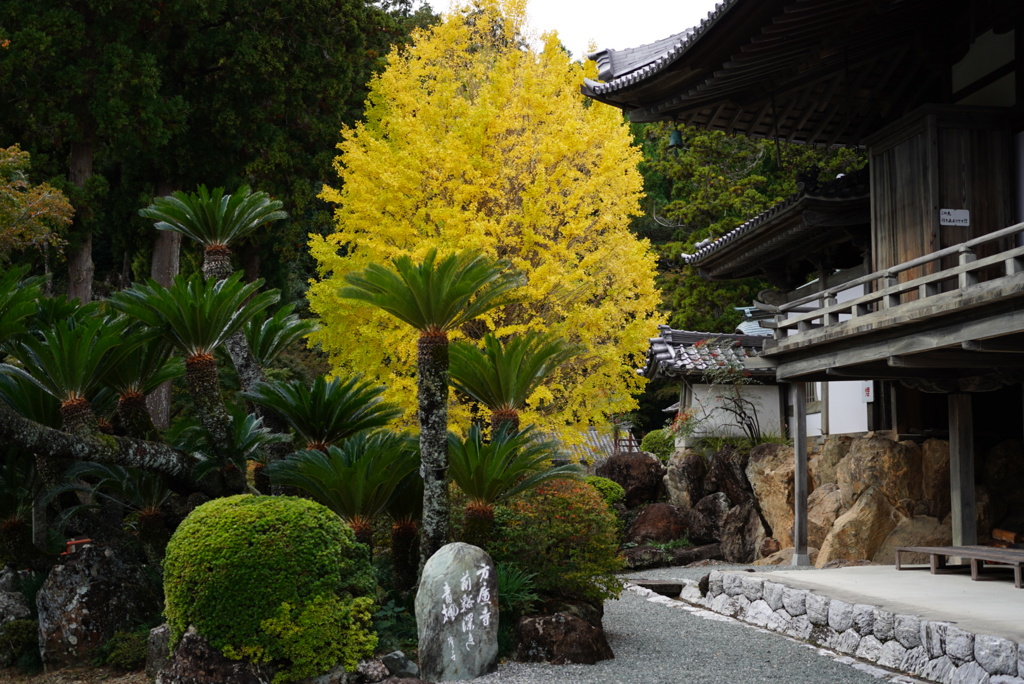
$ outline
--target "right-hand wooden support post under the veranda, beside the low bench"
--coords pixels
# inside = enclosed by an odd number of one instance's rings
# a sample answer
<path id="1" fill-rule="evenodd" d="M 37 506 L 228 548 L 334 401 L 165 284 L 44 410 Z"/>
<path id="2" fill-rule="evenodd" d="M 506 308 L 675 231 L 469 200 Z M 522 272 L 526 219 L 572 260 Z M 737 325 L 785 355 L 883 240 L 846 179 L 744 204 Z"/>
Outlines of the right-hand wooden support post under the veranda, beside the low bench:
<path id="1" fill-rule="evenodd" d="M 974 415 L 970 394 L 949 395 L 949 499 L 953 546 L 978 543 L 974 499 Z"/>

